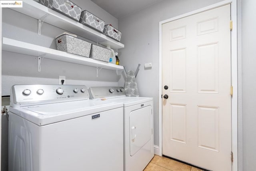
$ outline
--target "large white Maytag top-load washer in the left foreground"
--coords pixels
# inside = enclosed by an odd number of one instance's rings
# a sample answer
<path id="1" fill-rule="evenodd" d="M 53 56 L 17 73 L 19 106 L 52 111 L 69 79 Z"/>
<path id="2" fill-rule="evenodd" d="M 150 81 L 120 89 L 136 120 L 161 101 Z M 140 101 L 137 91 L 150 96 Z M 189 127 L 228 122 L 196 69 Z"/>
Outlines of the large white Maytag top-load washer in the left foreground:
<path id="1" fill-rule="evenodd" d="M 85 85 L 14 85 L 9 171 L 122 171 L 123 104 Z"/>

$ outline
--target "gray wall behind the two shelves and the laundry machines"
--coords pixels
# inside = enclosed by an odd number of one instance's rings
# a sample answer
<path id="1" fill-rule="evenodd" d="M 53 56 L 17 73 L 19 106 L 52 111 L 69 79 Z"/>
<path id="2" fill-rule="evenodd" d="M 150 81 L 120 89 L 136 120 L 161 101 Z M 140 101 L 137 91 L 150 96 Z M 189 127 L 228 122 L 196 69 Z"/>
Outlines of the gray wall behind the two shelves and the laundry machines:
<path id="1" fill-rule="evenodd" d="M 102 10 L 90 0 L 72 0 L 83 10 L 88 10 L 105 20 L 107 24 L 118 27 L 118 20 Z M 42 35 L 39 36 L 38 20 L 20 14 L 14 10 L 3 8 L 2 36 L 31 44 L 56 49 L 54 38 L 67 32 L 44 23 Z M 80 38 L 80 37 L 79 37 Z M 82 38 L 86 40 L 85 38 Z M 90 42 L 90 41 L 89 41 Z M 95 44 L 95 42 L 92 42 Z M 37 57 L 12 52 L 2 52 L 2 95 L 10 95 L 10 87 L 14 84 L 58 84 L 59 76 L 66 76 L 66 84 L 84 84 L 90 86 L 117 86 L 118 74 L 114 70 L 102 69 L 96 77 L 96 68 L 68 62 L 43 59 L 41 72 L 37 71 Z M 2 171 L 8 167 L 8 122 L 2 120 Z"/>

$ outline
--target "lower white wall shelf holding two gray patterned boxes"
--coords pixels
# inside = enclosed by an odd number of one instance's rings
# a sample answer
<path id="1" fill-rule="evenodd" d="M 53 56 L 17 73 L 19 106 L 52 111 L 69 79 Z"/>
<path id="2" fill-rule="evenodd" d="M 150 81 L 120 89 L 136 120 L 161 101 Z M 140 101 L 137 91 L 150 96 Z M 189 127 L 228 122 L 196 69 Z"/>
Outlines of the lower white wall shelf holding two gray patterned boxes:
<path id="1" fill-rule="evenodd" d="M 2 50 L 8 52 L 15 52 L 19 54 L 26 54 L 30 56 L 37 56 L 41 58 L 47 58 L 52 60 L 70 62 L 74 64 L 81 64 L 86 66 L 93 66 L 97 68 L 104 68 L 108 70 L 123 70 L 123 66 L 111 64 L 108 62 L 102 62 L 99 60 L 94 60 L 92 58 L 86 58 L 74 54 L 69 54 L 67 52 L 62 52 L 55 49 L 45 48 L 42 46 L 21 42 L 18 40 L 13 40 L 9 38 L 3 38 L 2 40 Z M 39 59 L 39 58 L 38 58 Z M 38 61 L 39 63 L 39 61 Z M 38 64 L 38 72 L 40 72 L 41 65 Z"/>

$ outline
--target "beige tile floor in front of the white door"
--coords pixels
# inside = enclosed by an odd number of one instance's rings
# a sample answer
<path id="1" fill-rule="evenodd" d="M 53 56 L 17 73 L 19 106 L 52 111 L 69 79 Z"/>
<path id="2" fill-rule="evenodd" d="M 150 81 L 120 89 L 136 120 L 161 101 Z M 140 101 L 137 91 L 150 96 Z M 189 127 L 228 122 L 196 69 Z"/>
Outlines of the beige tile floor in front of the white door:
<path id="1" fill-rule="evenodd" d="M 202 171 L 184 163 L 155 155 L 144 171 Z"/>

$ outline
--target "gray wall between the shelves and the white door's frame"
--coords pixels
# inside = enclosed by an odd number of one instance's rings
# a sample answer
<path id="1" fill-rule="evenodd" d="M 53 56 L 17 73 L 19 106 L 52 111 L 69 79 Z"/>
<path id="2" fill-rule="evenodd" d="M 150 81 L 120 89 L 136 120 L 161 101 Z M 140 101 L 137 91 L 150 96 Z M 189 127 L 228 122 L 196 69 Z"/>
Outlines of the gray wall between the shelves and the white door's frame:
<path id="1" fill-rule="evenodd" d="M 120 64 L 136 70 L 140 96 L 154 97 L 154 144 L 159 145 L 158 90 L 159 90 L 159 22 L 203 8 L 221 0 L 163 0 L 118 21 L 125 48 L 118 51 Z M 144 64 L 152 62 L 152 69 Z M 118 84 L 124 85 L 124 77 Z"/>

